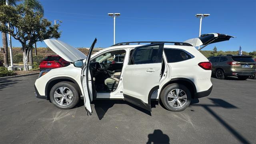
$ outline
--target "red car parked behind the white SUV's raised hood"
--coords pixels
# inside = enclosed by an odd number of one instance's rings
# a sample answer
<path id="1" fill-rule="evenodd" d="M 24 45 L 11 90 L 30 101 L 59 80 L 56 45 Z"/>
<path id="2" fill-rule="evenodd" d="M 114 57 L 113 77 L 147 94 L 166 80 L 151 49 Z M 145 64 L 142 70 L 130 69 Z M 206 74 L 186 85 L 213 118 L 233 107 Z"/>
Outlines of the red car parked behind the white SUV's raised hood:
<path id="1" fill-rule="evenodd" d="M 40 68 L 40 71 L 42 71 L 46 69 L 61 68 L 64 66 L 68 66 L 69 64 L 70 62 L 67 62 L 60 56 L 52 55 L 52 56 L 47 56 L 45 59 L 43 59 L 40 62 L 39 68 Z"/>

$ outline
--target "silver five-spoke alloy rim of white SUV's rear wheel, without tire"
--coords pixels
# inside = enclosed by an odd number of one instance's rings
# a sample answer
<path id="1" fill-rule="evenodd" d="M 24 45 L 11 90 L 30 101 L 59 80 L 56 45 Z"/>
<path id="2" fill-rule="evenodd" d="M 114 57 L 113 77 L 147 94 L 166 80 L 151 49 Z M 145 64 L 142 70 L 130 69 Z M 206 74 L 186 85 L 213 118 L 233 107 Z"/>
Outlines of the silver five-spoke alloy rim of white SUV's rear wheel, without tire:
<path id="1" fill-rule="evenodd" d="M 174 108 L 181 108 L 187 102 L 187 95 L 184 90 L 174 89 L 167 95 L 167 102 Z"/>

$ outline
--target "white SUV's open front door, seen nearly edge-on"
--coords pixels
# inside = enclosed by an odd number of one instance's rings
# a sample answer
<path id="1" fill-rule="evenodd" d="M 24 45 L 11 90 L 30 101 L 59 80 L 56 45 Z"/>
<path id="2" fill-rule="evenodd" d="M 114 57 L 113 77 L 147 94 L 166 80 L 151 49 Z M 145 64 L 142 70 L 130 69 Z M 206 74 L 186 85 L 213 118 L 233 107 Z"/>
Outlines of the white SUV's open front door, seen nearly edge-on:
<path id="1" fill-rule="evenodd" d="M 90 58 L 92 55 L 92 50 L 97 42 L 97 39 L 95 38 L 94 42 L 92 43 L 92 46 L 89 50 L 89 53 L 86 58 L 85 67 L 82 70 L 82 86 L 84 90 L 84 106 L 87 111 L 87 115 L 92 115 L 92 107 L 91 107 L 91 101 L 92 101 L 92 77 L 89 70 L 89 64 L 90 64 Z"/>

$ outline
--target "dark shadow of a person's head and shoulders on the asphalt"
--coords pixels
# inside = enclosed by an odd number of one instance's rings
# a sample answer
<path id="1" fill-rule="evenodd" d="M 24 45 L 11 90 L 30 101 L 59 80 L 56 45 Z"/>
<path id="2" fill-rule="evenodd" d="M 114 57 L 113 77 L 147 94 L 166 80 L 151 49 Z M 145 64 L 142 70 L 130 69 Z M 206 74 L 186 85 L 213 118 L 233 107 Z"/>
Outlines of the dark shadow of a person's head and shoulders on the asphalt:
<path id="1" fill-rule="evenodd" d="M 148 142 L 146 144 L 170 144 L 170 138 L 163 134 L 162 130 L 154 130 L 153 134 L 148 134 Z"/>

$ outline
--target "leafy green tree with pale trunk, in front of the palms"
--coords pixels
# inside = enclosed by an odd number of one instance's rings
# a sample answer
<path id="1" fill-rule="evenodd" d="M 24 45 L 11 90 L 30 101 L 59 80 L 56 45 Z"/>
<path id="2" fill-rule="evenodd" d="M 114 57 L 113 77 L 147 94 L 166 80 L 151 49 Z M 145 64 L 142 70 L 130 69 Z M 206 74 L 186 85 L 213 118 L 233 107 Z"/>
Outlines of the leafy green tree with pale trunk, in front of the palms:
<path id="1" fill-rule="evenodd" d="M 60 38 L 61 34 L 58 32 L 58 24 L 52 26 L 50 21 L 43 18 L 42 13 L 34 12 L 23 4 L 16 7 L 0 6 L 0 22 L 10 24 L 10 29 L 6 25 L 0 25 L 0 31 L 10 32 L 21 43 L 24 70 L 28 70 L 28 53 L 35 42 Z"/>

